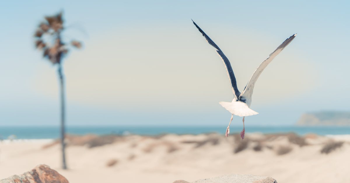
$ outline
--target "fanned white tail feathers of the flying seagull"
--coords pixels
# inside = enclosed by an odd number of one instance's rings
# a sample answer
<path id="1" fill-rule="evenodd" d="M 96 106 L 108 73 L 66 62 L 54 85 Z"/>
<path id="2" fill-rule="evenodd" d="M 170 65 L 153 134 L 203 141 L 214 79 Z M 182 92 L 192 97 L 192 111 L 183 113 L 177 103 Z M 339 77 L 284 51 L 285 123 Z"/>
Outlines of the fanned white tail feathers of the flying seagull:
<path id="1" fill-rule="evenodd" d="M 222 107 L 226 110 L 230 111 L 231 114 L 236 116 L 251 116 L 255 114 L 259 114 L 252 109 L 250 109 L 246 103 L 240 101 L 234 102 L 219 102 Z"/>

